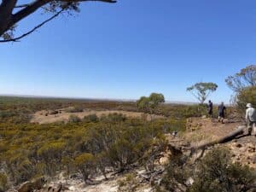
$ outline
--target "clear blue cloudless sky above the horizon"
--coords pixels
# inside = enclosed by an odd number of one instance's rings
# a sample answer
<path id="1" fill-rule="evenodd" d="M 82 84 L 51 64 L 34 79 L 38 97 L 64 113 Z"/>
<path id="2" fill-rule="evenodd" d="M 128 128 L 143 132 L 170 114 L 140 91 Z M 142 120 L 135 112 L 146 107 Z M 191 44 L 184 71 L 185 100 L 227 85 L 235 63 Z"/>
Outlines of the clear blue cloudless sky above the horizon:
<path id="1" fill-rule="evenodd" d="M 84 3 L 20 43 L 0 44 L 0 94 L 137 99 L 161 92 L 195 102 L 186 87 L 224 79 L 256 61 L 255 0 Z M 45 15 L 20 23 L 20 31 Z"/>

